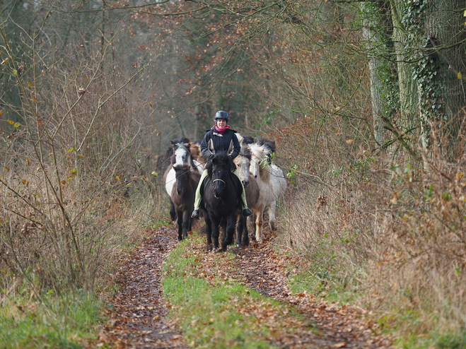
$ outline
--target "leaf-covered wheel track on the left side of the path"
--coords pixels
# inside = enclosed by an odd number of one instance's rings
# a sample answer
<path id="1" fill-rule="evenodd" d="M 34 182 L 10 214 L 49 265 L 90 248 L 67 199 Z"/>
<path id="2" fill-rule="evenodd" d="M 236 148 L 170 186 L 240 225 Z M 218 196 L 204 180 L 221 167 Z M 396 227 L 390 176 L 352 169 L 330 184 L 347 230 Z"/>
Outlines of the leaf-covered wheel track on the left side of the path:
<path id="1" fill-rule="evenodd" d="M 112 300 L 110 324 L 96 346 L 104 348 L 189 348 L 175 324 L 168 321 L 162 296 L 162 262 L 175 249 L 175 230 L 148 230 L 144 242 L 124 261 Z"/>

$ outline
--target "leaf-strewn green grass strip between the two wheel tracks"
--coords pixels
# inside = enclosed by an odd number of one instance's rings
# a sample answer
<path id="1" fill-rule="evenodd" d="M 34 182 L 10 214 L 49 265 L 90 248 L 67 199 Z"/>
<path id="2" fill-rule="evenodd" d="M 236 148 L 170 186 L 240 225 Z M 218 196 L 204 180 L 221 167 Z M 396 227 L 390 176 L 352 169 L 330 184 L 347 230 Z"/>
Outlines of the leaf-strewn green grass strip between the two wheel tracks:
<path id="1" fill-rule="evenodd" d="M 164 266 L 163 292 L 195 348 L 330 348 L 294 307 L 246 288 L 231 252 L 204 251 L 191 235 Z M 336 343 L 338 344 L 338 343 Z"/>

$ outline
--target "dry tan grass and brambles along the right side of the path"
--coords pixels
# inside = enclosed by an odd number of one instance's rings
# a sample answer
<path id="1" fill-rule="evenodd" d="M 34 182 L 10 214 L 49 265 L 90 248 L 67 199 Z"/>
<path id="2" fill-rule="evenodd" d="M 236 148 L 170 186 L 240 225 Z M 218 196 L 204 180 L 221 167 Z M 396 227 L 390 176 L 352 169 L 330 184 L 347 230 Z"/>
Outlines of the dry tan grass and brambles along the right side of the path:
<path id="1" fill-rule="evenodd" d="M 455 163 L 434 150 L 421 163 L 400 155 L 394 162 L 363 151 L 363 143 L 351 152 L 344 138 L 329 134 L 326 141 L 308 139 L 318 145 L 305 148 L 308 159 L 287 160 L 298 170 L 279 221 L 281 244 L 302 257 L 315 292 L 333 290 L 343 300 L 351 290 L 403 335 L 460 333 L 466 323 L 464 147 L 455 149 Z M 281 155 L 304 143 L 299 137 L 281 142 Z"/>

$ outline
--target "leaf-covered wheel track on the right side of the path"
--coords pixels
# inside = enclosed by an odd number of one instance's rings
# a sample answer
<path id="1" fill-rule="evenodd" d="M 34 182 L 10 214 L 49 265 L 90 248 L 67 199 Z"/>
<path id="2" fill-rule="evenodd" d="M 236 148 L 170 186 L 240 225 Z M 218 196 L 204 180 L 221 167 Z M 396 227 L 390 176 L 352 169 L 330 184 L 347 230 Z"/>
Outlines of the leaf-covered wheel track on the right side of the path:
<path id="1" fill-rule="evenodd" d="M 293 304 L 318 327 L 317 336 L 310 333 L 297 336 L 294 343 L 286 343 L 289 347 L 390 348 L 387 338 L 373 336 L 371 321 L 364 320 L 358 309 L 320 302 L 313 295 L 291 295 L 286 277 L 287 261 L 274 252 L 273 239 L 271 232 L 264 230 L 263 244 L 252 241 L 249 248 L 234 251 L 243 266 L 245 285 L 274 300 Z"/>

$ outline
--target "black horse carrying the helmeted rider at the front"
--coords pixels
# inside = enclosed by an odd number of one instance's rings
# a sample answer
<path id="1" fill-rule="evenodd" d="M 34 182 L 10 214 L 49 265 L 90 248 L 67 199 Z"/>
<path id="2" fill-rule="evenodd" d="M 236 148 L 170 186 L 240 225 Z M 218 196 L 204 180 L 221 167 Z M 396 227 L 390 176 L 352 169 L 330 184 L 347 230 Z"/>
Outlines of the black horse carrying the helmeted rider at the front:
<path id="1" fill-rule="evenodd" d="M 221 251 L 233 244 L 235 225 L 241 210 L 241 183 L 231 171 L 235 164 L 226 153 L 216 153 L 206 165 L 208 172 L 204 179 L 204 195 L 201 209 L 204 213 L 207 233 L 207 247 L 219 249 L 219 225 L 222 228 Z"/>

